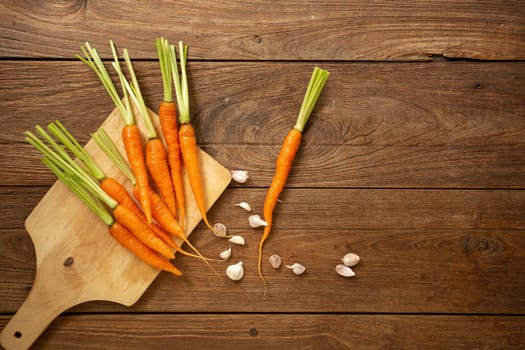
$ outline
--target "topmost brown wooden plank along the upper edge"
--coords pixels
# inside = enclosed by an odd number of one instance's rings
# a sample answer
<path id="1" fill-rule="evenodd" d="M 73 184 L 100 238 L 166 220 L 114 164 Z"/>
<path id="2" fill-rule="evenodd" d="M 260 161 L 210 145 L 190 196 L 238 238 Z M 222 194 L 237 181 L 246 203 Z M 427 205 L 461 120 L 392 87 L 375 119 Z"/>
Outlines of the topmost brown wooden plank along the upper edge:
<path id="1" fill-rule="evenodd" d="M 0 13 L 2 57 L 70 58 L 86 40 L 113 39 L 137 57 L 153 58 L 153 40 L 164 35 L 188 42 L 192 57 L 211 60 L 525 58 L 522 1 L 207 0 L 130 7 L 109 0 L 38 6 L 10 0 Z"/>

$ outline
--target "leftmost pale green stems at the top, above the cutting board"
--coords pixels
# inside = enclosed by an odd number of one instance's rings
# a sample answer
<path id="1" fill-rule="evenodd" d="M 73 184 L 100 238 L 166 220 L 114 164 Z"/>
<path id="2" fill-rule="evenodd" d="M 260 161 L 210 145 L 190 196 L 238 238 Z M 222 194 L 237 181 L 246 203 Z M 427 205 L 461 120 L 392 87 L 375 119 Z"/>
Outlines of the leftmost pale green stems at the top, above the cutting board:
<path id="1" fill-rule="evenodd" d="M 82 57 L 80 55 L 75 55 L 75 57 L 87 64 L 88 67 L 95 72 L 99 80 L 102 82 L 102 85 L 104 85 L 104 88 L 108 92 L 109 96 L 111 97 L 111 100 L 113 100 L 113 103 L 122 115 L 122 118 L 124 119 L 126 125 L 133 125 L 133 114 L 130 113 L 131 110 L 127 108 L 125 101 L 123 102 L 121 100 L 117 89 L 115 88 L 115 85 L 113 84 L 113 81 L 111 80 L 111 77 L 106 67 L 104 66 L 104 63 L 102 62 L 102 59 L 100 58 L 100 55 L 98 54 L 97 50 L 92 48 L 88 42 L 86 42 L 85 45 L 81 46 L 81 49 L 85 57 Z"/>

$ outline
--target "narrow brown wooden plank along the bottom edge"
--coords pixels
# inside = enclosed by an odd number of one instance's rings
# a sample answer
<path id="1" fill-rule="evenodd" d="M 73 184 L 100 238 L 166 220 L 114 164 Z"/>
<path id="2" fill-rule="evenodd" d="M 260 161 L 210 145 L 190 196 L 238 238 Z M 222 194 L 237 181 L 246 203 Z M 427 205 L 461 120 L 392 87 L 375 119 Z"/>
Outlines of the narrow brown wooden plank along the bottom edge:
<path id="1" fill-rule="evenodd" d="M 0 316 L 0 327 L 6 319 Z M 509 316 L 67 315 L 34 348 L 521 349 L 523 322 Z"/>

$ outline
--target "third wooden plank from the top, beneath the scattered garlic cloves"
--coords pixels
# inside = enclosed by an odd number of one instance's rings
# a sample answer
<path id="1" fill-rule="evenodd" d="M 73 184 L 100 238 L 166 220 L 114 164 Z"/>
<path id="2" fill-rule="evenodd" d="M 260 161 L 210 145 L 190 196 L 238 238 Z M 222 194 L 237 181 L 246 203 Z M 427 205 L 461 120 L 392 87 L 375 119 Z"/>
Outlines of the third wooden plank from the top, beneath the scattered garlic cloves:
<path id="1" fill-rule="evenodd" d="M 231 234 L 247 241 L 233 248 L 230 260 L 245 262 L 240 283 L 225 280 L 221 285 L 205 264 L 181 256 L 175 265 L 185 276 L 159 275 L 133 308 L 89 303 L 75 311 L 525 311 L 525 281 L 516 278 L 525 273 L 523 191 L 287 190 L 265 256 L 278 253 L 285 263 L 298 261 L 308 270 L 297 277 L 265 264 L 268 297 L 263 297 L 256 273 L 261 231 L 251 229 L 249 214 L 234 206 L 245 200 L 254 213 L 261 213 L 264 192 L 229 189 L 210 211 L 212 222 L 224 222 Z M 2 229 L 0 235 L 0 272 L 6 280 L 0 285 L 1 312 L 18 308 L 33 279 L 31 243 L 19 225 Z M 203 225 L 191 238 L 210 257 L 228 246 Z M 362 257 L 354 279 L 333 270 L 348 251 Z M 226 268 L 223 263 L 213 266 L 221 273 Z"/>

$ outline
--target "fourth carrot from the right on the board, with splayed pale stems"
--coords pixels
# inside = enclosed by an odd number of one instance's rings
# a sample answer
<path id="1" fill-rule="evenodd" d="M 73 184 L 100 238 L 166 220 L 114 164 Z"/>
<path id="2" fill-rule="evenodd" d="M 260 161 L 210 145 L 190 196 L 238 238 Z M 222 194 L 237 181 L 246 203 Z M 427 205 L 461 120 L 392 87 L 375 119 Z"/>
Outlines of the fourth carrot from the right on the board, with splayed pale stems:
<path id="1" fill-rule="evenodd" d="M 144 162 L 144 154 L 142 151 L 142 139 L 140 135 L 140 130 L 135 124 L 135 118 L 133 115 L 133 110 L 131 108 L 131 102 L 129 95 L 125 88 L 127 81 L 124 79 L 122 71 L 120 69 L 120 64 L 118 60 L 118 55 L 115 49 L 115 45 L 110 41 L 111 50 L 113 53 L 114 62 L 112 63 L 114 69 L 117 71 L 120 79 L 120 83 L 123 90 L 123 100 L 120 98 L 111 77 L 109 76 L 102 59 L 100 58 L 96 49 L 92 48 L 89 43 L 85 43 L 85 46 L 82 46 L 82 52 L 85 57 L 76 55 L 78 59 L 86 63 L 89 68 L 91 68 L 102 84 L 104 85 L 109 96 L 113 100 L 113 103 L 119 110 L 124 123 L 126 126 L 122 129 L 122 142 L 126 150 L 126 155 L 130 163 L 133 174 L 137 179 L 137 186 L 140 188 L 139 201 L 146 215 L 148 223 L 151 223 L 151 203 L 148 196 L 149 193 L 149 180 L 148 173 L 146 170 L 146 165 Z"/>

